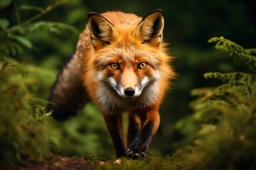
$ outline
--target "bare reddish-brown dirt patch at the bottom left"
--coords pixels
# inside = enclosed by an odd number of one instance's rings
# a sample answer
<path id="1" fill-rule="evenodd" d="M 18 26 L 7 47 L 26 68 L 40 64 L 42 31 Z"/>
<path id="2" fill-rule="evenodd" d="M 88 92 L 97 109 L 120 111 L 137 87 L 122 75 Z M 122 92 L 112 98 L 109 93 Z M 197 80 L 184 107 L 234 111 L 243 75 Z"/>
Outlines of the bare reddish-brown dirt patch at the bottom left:
<path id="1" fill-rule="evenodd" d="M 62 157 L 53 156 L 46 162 L 26 162 L 26 164 L 18 167 L 1 167 L 0 170 L 77 170 L 77 169 L 91 169 L 97 166 L 88 160 L 80 157 Z"/>

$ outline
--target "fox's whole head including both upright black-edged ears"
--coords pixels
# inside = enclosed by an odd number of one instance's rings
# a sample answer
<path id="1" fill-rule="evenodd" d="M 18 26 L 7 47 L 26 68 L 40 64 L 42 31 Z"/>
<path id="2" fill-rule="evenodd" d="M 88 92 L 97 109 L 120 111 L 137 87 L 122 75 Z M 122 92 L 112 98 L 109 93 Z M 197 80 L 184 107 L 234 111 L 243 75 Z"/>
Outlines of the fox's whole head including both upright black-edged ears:
<path id="1" fill-rule="evenodd" d="M 111 23 L 98 13 L 88 15 L 95 79 L 127 101 L 141 96 L 146 89 L 149 95 L 156 94 L 156 82 L 169 75 L 168 56 L 161 45 L 163 11 L 153 11 L 136 24 L 119 23 Z"/>

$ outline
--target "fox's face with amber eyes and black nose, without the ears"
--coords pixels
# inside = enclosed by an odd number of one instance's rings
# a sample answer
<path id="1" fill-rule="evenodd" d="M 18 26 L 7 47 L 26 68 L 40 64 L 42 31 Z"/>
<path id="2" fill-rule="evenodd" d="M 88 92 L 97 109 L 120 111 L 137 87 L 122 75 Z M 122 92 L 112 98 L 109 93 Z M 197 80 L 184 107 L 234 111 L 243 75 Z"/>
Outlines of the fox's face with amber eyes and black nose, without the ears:
<path id="1" fill-rule="evenodd" d="M 120 48 L 110 50 L 98 57 L 97 67 L 102 68 L 97 73 L 97 79 L 107 86 L 111 86 L 119 96 L 126 101 L 132 101 L 142 94 L 146 86 L 153 85 L 160 78 L 158 60 L 150 60 L 144 50 L 135 48 Z M 102 63 L 102 57 L 106 57 Z M 156 91 L 155 91 L 156 93 Z"/>

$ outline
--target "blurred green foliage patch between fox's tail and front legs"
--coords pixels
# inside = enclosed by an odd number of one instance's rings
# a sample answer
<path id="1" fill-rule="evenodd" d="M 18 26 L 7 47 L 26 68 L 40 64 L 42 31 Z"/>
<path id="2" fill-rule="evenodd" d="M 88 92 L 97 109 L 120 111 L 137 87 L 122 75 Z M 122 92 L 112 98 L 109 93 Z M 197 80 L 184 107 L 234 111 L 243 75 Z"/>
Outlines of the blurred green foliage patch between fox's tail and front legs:
<path id="1" fill-rule="evenodd" d="M 55 127 L 63 136 L 60 154 L 81 156 L 94 153 L 115 157 L 102 114 L 92 103 L 88 103 L 78 115 L 57 123 Z"/>

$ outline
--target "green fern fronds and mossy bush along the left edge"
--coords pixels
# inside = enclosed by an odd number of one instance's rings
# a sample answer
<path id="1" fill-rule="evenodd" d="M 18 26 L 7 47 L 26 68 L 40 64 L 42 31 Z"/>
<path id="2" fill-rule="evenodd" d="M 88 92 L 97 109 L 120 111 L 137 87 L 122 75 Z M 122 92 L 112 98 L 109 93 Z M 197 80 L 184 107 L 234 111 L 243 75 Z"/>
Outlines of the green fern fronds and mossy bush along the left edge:
<path id="1" fill-rule="evenodd" d="M 75 28 L 63 23 L 36 21 L 63 2 L 65 0 L 53 1 L 46 8 L 40 8 L 24 4 L 18 6 L 16 0 L 1 1 L 1 10 L 14 7 L 17 23 L 13 24 L 11 18 L 0 18 L 0 164 L 41 161 L 60 144 L 60 134 L 53 127 L 50 112 L 44 107 L 48 101 L 41 99 L 48 98 L 55 74 L 10 57 L 21 60 L 24 50 L 36 49 L 28 36 L 36 30 L 42 33 L 76 32 Z M 20 10 L 39 13 L 22 21 Z"/>

